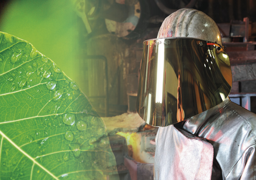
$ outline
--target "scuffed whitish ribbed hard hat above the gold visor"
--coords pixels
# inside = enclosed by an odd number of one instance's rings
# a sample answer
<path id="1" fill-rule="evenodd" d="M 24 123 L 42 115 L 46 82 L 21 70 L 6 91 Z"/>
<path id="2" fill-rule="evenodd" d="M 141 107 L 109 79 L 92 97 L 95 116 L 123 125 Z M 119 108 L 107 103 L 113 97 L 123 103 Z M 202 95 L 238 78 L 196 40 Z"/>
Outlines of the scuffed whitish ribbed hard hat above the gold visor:
<path id="1" fill-rule="evenodd" d="M 196 38 L 222 45 L 216 23 L 196 9 L 182 8 L 165 18 L 157 38 L 168 37 Z"/>

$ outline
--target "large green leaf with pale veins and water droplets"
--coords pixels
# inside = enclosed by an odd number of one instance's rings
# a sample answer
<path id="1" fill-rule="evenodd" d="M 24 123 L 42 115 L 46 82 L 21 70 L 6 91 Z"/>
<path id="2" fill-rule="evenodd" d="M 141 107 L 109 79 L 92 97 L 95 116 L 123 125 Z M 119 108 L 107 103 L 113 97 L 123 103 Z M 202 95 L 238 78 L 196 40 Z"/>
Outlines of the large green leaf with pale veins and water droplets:
<path id="1" fill-rule="evenodd" d="M 106 127 L 78 85 L 27 41 L 0 33 L 0 178 L 106 179 Z"/>

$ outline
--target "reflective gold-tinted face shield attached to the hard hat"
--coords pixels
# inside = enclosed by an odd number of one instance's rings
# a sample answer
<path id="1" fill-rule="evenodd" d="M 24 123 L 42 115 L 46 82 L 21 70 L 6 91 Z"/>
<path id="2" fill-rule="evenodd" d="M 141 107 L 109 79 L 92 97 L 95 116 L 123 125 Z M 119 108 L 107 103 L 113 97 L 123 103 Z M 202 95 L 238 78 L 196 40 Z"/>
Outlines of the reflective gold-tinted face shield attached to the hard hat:
<path id="1" fill-rule="evenodd" d="M 152 126 L 169 126 L 223 102 L 230 61 L 219 44 L 192 38 L 144 41 L 136 109 Z"/>

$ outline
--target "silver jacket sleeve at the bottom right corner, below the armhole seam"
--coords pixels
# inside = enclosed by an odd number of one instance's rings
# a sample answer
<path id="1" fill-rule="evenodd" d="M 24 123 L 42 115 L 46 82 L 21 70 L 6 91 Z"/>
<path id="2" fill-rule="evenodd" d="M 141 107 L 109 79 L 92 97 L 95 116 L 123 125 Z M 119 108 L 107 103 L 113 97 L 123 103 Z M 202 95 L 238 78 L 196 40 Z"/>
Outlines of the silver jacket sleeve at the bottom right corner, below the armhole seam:
<path id="1" fill-rule="evenodd" d="M 255 180 L 256 179 L 256 143 L 249 146 L 233 166 L 226 180 Z"/>

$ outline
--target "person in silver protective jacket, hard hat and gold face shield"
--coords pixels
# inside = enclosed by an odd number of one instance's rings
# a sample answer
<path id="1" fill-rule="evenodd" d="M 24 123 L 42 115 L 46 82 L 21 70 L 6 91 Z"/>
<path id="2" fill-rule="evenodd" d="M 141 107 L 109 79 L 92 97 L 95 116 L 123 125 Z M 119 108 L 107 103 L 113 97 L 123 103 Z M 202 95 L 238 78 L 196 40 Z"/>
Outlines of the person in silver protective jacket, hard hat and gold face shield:
<path id="1" fill-rule="evenodd" d="M 230 101 L 232 74 L 216 23 L 168 16 L 144 42 L 137 112 L 156 136 L 154 179 L 256 179 L 256 115 Z"/>

